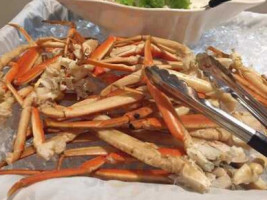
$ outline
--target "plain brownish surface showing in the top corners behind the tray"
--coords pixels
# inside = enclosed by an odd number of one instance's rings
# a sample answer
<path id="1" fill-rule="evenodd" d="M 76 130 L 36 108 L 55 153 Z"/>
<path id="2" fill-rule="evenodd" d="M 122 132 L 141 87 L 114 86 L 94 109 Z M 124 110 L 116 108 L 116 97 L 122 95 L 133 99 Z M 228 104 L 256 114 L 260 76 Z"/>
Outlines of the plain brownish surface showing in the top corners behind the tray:
<path id="1" fill-rule="evenodd" d="M 31 0 L 0 0 L 0 27 L 8 23 Z M 253 0 L 252 0 L 253 1 Z M 267 2 L 251 9 L 254 12 L 267 13 Z"/>

